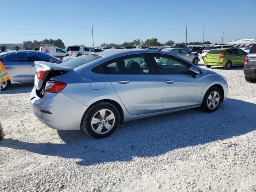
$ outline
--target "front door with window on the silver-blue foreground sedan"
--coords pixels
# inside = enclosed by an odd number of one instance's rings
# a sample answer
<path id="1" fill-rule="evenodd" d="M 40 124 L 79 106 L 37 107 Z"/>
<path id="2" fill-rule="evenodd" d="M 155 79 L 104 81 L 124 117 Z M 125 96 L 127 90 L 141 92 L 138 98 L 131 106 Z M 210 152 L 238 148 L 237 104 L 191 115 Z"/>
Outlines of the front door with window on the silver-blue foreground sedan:
<path id="1" fill-rule="evenodd" d="M 200 75 L 188 73 L 191 64 L 165 54 L 152 54 L 152 60 L 163 84 L 162 107 L 174 110 L 198 106 L 202 93 Z"/>

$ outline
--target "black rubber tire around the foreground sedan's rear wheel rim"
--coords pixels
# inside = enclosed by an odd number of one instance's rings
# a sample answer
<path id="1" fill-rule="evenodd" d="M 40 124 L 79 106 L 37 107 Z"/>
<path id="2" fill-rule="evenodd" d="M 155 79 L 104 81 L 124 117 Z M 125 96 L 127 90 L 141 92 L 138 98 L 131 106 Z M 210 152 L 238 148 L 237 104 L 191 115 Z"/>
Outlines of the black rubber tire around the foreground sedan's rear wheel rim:
<path id="1" fill-rule="evenodd" d="M 94 114 L 96 112 L 98 112 L 99 110 L 101 110 L 101 109 L 111 110 L 113 112 L 114 116 L 115 116 L 115 123 L 114 123 L 113 128 L 109 132 L 104 133 L 104 134 L 97 134 L 92 129 L 91 120 L 92 120 Z M 119 112 L 113 104 L 108 103 L 108 102 L 99 102 L 99 103 L 94 104 L 90 108 L 88 108 L 88 110 L 86 111 L 86 113 L 84 114 L 84 116 L 82 118 L 81 128 L 90 137 L 104 138 L 104 137 L 107 137 L 107 136 L 111 135 L 116 130 L 116 128 L 118 127 L 119 121 L 120 121 Z"/>

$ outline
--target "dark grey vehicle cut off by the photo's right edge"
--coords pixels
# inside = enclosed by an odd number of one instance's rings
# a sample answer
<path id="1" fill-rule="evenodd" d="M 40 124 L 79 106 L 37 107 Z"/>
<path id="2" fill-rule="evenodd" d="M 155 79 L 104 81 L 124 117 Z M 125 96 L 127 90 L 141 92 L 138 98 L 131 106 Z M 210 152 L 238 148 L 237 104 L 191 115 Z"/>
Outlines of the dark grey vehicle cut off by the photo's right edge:
<path id="1" fill-rule="evenodd" d="M 244 78 L 247 82 L 256 82 L 256 44 L 253 44 L 244 58 Z"/>

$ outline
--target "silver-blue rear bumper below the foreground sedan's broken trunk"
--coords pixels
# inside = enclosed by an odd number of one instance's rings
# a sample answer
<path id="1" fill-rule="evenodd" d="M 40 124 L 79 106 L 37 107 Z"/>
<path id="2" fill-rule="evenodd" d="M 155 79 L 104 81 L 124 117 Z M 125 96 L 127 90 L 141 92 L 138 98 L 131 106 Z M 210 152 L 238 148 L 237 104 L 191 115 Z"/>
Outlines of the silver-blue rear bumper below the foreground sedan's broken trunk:
<path id="1" fill-rule="evenodd" d="M 62 93 L 45 93 L 43 98 L 39 98 L 35 88 L 30 95 L 30 105 L 38 120 L 58 130 L 80 130 L 82 116 L 89 107 Z M 41 110 L 52 114 L 41 112 Z"/>

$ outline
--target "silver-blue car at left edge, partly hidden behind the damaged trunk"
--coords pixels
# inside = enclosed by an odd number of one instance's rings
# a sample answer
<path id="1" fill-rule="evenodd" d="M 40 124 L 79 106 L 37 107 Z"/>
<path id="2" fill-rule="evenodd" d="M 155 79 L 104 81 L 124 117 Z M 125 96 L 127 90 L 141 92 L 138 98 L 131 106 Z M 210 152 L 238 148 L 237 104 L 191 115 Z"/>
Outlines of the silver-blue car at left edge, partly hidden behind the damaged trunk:
<path id="1" fill-rule="evenodd" d="M 39 51 L 8 51 L 0 53 L 0 61 L 6 68 L 10 80 L 1 83 L 1 90 L 10 84 L 34 82 L 34 62 L 47 61 L 60 63 L 61 60 Z"/>

